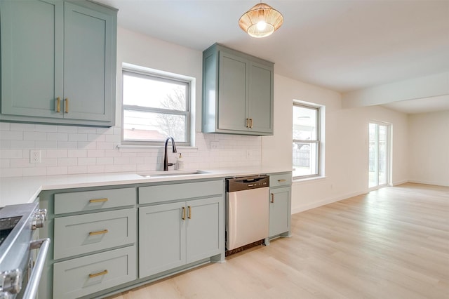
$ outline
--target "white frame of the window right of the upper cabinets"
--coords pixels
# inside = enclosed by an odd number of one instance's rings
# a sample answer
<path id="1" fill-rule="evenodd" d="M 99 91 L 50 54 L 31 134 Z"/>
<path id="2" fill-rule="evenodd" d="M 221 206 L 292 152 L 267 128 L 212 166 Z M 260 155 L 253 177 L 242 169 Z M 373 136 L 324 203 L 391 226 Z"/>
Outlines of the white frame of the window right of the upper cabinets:
<path id="1" fill-rule="evenodd" d="M 315 168 L 316 173 L 311 175 L 295 175 L 293 176 L 293 180 L 302 180 L 307 178 L 318 178 L 321 177 L 321 107 L 316 105 L 307 105 L 302 102 L 293 101 L 293 109 L 296 107 L 303 107 L 307 109 L 314 109 L 316 110 L 316 140 L 300 140 L 300 139 L 293 139 L 293 144 L 295 143 L 309 143 L 316 145 L 316 161 L 315 161 Z M 293 136 L 292 136 L 293 138 Z M 293 145 L 292 144 L 292 145 Z M 292 153 L 293 154 L 293 153 Z M 292 155 L 292 166 L 293 166 L 293 155 Z"/>

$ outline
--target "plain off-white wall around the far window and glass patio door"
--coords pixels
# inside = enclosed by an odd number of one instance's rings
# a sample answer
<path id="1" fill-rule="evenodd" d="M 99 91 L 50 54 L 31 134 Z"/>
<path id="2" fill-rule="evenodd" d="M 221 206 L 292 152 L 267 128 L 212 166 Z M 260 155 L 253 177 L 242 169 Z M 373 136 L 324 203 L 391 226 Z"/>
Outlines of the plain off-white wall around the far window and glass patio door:
<path id="1" fill-rule="evenodd" d="M 293 182 L 292 212 L 368 192 L 368 123 L 393 126 L 392 182 L 408 180 L 406 114 L 383 107 L 342 109 L 339 93 L 286 77 L 274 77 L 273 136 L 262 138 L 264 165 L 291 166 L 293 99 L 326 106 L 325 177 Z"/>

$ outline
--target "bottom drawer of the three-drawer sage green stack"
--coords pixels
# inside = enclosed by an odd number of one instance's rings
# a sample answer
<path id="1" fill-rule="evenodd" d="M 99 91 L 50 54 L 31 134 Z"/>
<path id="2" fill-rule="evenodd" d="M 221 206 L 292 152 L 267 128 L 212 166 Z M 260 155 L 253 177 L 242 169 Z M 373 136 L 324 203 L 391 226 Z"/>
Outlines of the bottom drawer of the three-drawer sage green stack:
<path id="1" fill-rule="evenodd" d="M 79 298 L 137 278 L 135 246 L 53 265 L 53 298 Z"/>

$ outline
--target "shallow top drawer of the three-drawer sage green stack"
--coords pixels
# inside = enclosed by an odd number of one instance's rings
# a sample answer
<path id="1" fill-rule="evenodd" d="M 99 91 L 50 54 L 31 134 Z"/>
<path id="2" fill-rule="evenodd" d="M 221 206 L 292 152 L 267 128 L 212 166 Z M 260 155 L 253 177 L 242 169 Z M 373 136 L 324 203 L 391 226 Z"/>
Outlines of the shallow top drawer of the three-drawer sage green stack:
<path id="1" fill-rule="evenodd" d="M 101 210 L 135 204 L 135 188 L 55 194 L 55 214 Z"/>

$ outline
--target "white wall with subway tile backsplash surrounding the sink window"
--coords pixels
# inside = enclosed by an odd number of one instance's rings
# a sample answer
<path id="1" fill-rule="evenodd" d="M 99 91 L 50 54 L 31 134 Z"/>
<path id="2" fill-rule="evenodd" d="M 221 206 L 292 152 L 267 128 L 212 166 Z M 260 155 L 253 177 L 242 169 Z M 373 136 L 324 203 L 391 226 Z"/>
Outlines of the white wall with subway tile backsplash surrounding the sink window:
<path id="1" fill-rule="evenodd" d="M 121 64 L 128 62 L 196 79 L 196 111 L 201 112 L 202 52 L 118 29 L 116 126 L 89 128 L 0 123 L 0 178 L 30 175 L 145 172 L 161 169 L 162 147 L 119 149 L 121 139 Z M 258 136 L 201 133 L 196 115 L 195 147 L 178 147 L 185 168 L 260 166 Z M 210 140 L 218 150 L 210 150 Z M 29 151 L 41 150 L 41 164 L 29 163 Z M 246 151 L 250 150 L 250 158 Z M 175 161 L 171 154 L 169 161 Z"/>

